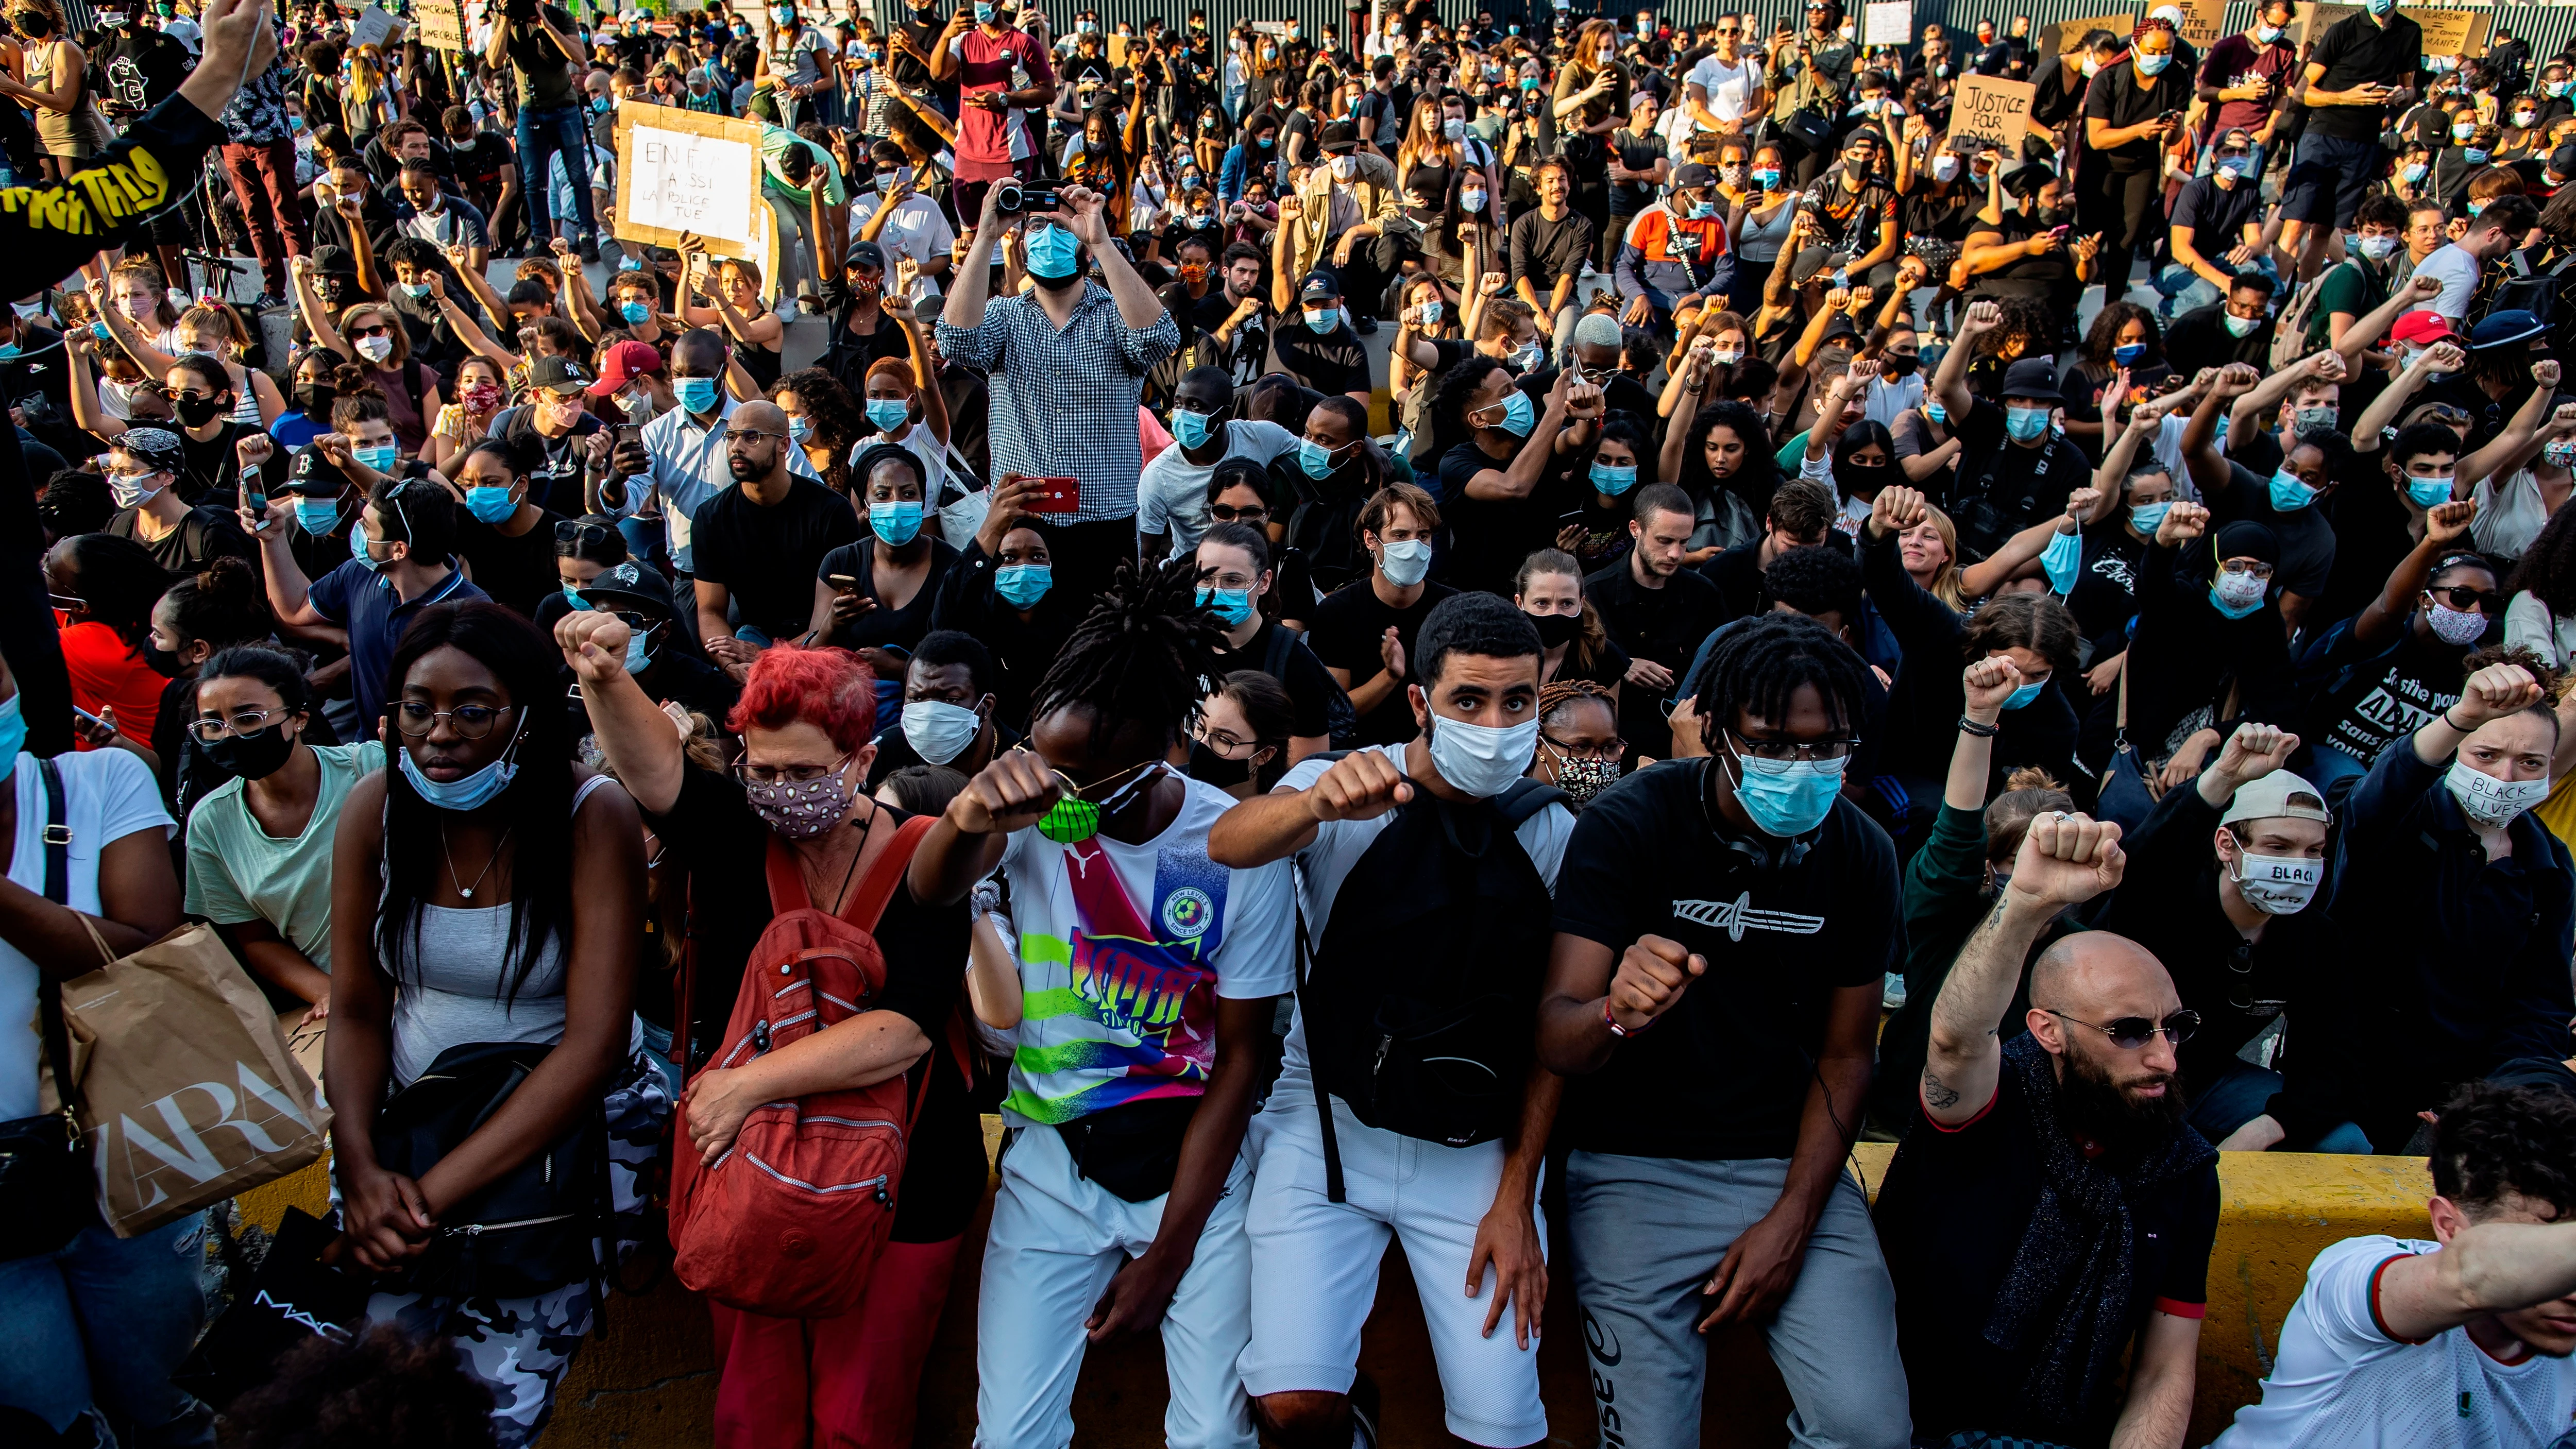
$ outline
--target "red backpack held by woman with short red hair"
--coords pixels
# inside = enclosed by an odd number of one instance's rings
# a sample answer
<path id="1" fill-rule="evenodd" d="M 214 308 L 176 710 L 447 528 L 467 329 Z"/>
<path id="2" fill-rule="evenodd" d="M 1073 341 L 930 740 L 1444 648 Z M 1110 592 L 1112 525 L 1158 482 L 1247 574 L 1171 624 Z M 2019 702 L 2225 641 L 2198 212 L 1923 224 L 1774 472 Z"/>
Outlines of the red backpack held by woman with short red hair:
<path id="1" fill-rule="evenodd" d="M 904 821 L 840 916 L 811 906 L 796 860 L 770 842 L 770 906 L 714 1068 L 811 1037 L 868 1009 L 886 988 L 878 916 L 904 880 L 933 816 Z M 933 1055 L 940 1048 L 933 1048 Z M 876 1086 L 770 1102 L 734 1145 L 701 1166 L 688 1104 L 675 1112 L 670 1184 L 672 1271 L 726 1307 L 773 1318 L 835 1318 L 858 1307 L 904 1181 L 904 1148 L 930 1096 L 930 1063 Z M 907 1096 L 912 1096 L 907 1102 Z"/>

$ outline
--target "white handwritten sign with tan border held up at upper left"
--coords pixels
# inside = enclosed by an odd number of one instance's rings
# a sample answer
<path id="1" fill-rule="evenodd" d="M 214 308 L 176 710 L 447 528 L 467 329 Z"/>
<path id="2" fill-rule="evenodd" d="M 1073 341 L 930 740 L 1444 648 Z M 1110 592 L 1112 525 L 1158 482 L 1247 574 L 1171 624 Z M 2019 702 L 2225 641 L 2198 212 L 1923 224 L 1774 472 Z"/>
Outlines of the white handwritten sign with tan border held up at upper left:
<path id="1" fill-rule="evenodd" d="M 618 237 L 670 247 L 706 237 L 719 257 L 760 247 L 760 131 L 750 121 L 670 106 L 618 106 Z"/>

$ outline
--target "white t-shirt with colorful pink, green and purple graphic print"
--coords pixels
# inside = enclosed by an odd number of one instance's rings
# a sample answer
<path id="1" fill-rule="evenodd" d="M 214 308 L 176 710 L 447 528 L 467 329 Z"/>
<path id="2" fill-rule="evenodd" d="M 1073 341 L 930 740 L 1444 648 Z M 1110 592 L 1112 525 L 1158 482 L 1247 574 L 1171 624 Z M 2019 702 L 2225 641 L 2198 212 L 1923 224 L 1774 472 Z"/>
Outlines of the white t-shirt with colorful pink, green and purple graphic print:
<path id="1" fill-rule="evenodd" d="M 1288 862 L 1211 862 L 1208 826 L 1234 795 L 1188 788 L 1180 816 L 1144 844 L 1056 844 L 1036 826 L 1010 836 L 1023 991 L 1002 1102 L 1012 1127 L 1198 1096 L 1216 1066 L 1216 999 L 1296 986 Z"/>

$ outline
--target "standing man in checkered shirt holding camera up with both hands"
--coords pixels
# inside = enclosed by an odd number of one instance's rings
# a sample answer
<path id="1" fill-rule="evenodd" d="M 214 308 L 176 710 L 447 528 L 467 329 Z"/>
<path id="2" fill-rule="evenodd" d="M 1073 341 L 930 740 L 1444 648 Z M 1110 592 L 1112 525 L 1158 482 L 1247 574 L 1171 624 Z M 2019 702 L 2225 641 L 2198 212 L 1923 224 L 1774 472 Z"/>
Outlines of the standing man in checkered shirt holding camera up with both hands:
<path id="1" fill-rule="evenodd" d="M 940 355 L 992 376 L 994 479 L 1082 484 L 1074 512 L 1036 520 L 1054 553 L 1054 587 L 1079 597 L 1108 584 L 1118 558 L 1136 558 L 1136 399 L 1146 371 L 1180 350 L 1180 327 L 1110 245 L 1103 198 L 1079 185 L 1061 188 L 1061 211 L 1030 216 L 1018 242 L 1038 286 L 987 299 L 1005 226 L 999 193 L 984 193 L 974 245 L 958 263 Z M 1084 281 L 1084 260 L 1100 265 L 1097 283 Z"/>

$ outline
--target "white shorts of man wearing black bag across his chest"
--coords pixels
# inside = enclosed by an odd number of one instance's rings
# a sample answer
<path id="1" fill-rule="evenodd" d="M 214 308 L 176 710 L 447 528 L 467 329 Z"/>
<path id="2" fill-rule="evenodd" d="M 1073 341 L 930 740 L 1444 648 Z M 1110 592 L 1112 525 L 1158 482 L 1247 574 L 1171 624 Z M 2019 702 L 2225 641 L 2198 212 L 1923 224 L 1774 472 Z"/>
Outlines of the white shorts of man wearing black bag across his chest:
<path id="1" fill-rule="evenodd" d="M 1324 1135 L 1314 1086 L 1303 1073 L 1280 1076 L 1252 1117 L 1252 1343 L 1244 1390 L 1350 1392 L 1360 1367 L 1360 1328 L 1378 1300 L 1386 1238 L 1404 1241 L 1404 1261 L 1422 1295 L 1448 1431 L 1468 1444 L 1538 1444 L 1548 1410 L 1538 1400 L 1538 1336 L 1522 1349 L 1504 1307 L 1494 1333 L 1484 1315 L 1497 1279 L 1486 1266 L 1466 1297 L 1466 1264 L 1476 1225 L 1502 1186 L 1502 1143 L 1443 1148 L 1365 1127 L 1340 1099 L 1332 1130 L 1342 1156 L 1342 1197 L 1324 1194 Z M 1538 1243 L 1546 1248 L 1546 1223 Z"/>

